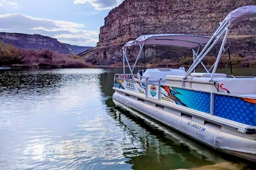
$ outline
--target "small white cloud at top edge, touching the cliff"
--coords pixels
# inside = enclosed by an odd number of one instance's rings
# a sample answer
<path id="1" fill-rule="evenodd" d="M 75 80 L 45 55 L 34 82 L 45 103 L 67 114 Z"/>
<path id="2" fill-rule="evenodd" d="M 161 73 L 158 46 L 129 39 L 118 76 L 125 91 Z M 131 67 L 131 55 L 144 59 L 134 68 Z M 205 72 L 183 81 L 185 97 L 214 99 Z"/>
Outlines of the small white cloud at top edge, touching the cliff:
<path id="1" fill-rule="evenodd" d="M 91 4 L 97 10 L 104 10 L 104 9 L 112 9 L 119 4 L 121 4 L 124 0 L 75 0 L 73 1 L 74 4 Z"/>

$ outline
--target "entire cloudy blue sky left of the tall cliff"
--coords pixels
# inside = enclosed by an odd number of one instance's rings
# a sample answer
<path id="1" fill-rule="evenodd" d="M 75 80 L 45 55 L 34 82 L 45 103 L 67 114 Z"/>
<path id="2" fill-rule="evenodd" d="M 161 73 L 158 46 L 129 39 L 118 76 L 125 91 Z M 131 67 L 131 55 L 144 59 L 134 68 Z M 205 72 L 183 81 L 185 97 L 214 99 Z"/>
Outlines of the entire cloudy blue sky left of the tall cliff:
<path id="1" fill-rule="evenodd" d="M 123 0 L 0 0 L 0 32 L 41 34 L 95 46 L 108 12 Z"/>

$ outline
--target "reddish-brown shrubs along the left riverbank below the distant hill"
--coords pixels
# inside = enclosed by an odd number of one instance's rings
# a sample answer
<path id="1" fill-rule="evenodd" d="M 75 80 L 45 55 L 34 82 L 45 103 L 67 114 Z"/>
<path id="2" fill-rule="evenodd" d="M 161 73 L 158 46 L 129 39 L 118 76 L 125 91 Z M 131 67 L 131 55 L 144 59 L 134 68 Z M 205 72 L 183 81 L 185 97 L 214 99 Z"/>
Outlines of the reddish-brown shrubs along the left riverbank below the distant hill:
<path id="1" fill-rule="evenodd" d="M 0 65 L 17 65 L 39 68 L 85 68 L 93 67 L 81 57 L 72 54 L 59 54 L 47 49 L 23 50 L 13 45 L 0 43 Z"/>

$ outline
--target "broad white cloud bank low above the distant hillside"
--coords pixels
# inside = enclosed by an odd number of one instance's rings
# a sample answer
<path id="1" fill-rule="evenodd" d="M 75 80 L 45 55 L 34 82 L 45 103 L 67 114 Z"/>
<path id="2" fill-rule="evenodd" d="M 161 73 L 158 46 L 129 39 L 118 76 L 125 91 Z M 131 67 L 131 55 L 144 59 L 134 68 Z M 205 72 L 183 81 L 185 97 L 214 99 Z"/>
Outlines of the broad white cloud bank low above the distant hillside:
<path id="1" fill-rule="evenodd" d="M 84 24 L 29 17 L 23 14 L 0 15 L 0 31 L 41 34 L 74 45 L 98 42 L 98 31 L 85 29 Z"/>

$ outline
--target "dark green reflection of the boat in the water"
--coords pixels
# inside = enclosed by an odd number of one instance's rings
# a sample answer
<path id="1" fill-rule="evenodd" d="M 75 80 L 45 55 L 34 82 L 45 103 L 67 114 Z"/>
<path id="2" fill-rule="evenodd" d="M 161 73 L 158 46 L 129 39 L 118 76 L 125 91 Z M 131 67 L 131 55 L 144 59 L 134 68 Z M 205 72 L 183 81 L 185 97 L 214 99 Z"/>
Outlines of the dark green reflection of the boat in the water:
<path id="1" fill-rule="evenodd" d="M 163 166 L 171 166 L 171 169 L 225 162 L 214 150 L 116 100 L 114 103 L 115 105 L 107 101 L 108 107 L 112 109 L 111 113 L 114 113 L 111 116 L 123 129 L 123 145 L 127 148 L 124 149 L 123 155 L 131 159 L 129 163 L 135 167 L 138 168 L 140 163 L 147 159 L 149 162 L 142 165 L 149 165 L 150 168 L 150 165 L 160 163 Z"/>

